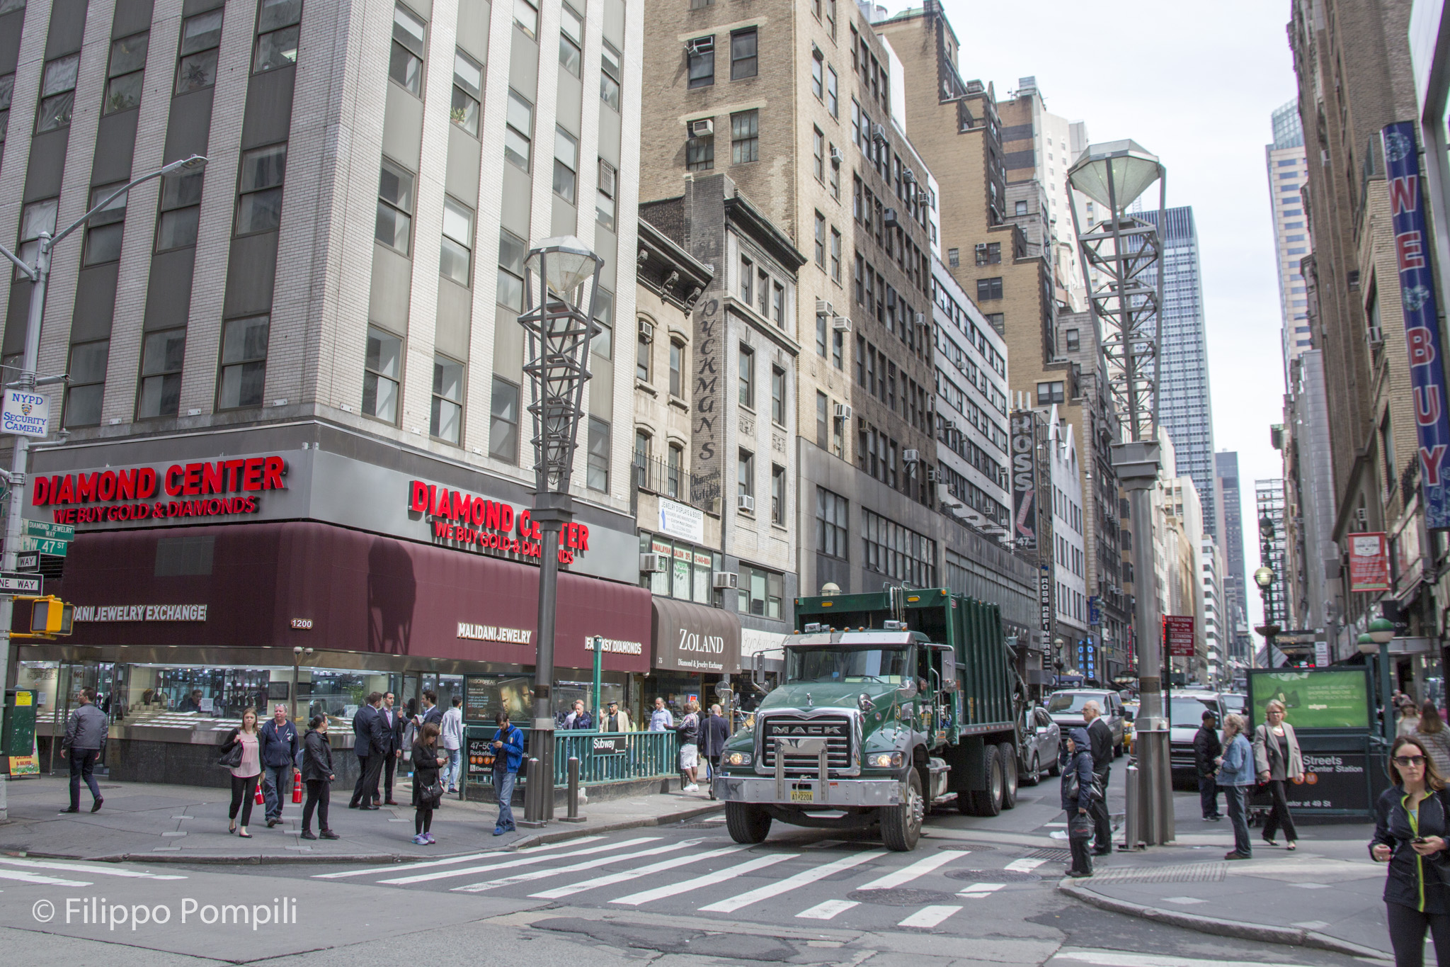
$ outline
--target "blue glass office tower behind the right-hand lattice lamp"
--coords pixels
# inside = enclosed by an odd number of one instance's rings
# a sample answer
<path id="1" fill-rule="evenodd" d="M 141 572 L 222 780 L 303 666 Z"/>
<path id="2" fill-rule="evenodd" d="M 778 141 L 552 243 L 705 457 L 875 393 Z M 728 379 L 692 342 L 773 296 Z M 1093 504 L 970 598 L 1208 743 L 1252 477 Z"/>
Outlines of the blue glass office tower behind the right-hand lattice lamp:
<path id="1" fill-rule="evenodd" d="M 1135 213 L 1157 225 L 1159 213 Z M 1218 536 L 1218 489 L 1214 476 L 1214 404 L 1208 383 L 1208 333 L 1204 281 L 1193 209 L 1164 212 L 1163 341 L 1159 345 L 1159 413 L 1177 454 L 1180 474 L 1193 478 L 1204 505 L 1204 529 Z"/>

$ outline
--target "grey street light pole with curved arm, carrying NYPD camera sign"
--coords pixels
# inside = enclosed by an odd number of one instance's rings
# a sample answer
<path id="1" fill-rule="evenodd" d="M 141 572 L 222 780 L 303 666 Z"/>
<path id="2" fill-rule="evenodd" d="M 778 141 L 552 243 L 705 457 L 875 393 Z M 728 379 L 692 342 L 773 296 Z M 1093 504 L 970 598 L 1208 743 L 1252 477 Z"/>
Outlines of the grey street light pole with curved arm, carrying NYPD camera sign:
<path id="1" fill-rule="evenodd" d="M 133 178 L 125 187 L 113 191 L 104 202 L 91 207 L 90 212 L 80 216 L 68 228 L 55 235 L 49 232 L 41 232 L 36 239 L 35 249 L 35 265 L 26 265 L 25 260 L 12 252 L 4 245 L 0 245 L 0 255 L 4 255 L 20 274 L 35 283 L 30 290 L 30 307 L 25 320 L 25 355 L 20 361 L 20 377 L 14 381 L 6 383 L 9 389 L 23 389 L 33 391 L 36 386 L 48 386 L 52 383 L 62 383 L 67 377 L 45 377 L 38 380 L 35 375 L 36 358 L 41 355 L 41 320 L 45 318 L 45 294 L 51 283 L 51 252 L 55 246 L 72 233 L 80 226 L 86 225 L 97 212 L 103 210 L 107 204 L 119 199 L 120 196 L 130 191 L 133 187 L 142 181 L 151 181 L 152 178 L 160 178 L 162 175 L 175 174 L 177 171 L 200 171 L 206 167 L 206 158 L 202 155 L 190 155 L 181 161 L 173 161 L 168 165 L 157 168 L 151 174 L 144 174 L 139 178 Z M 30 449 L 30 438 L 17 435 L 14 438 L 14 451 L 10 455 L 10 473 L 0 476 L 10 484 L 10 506 L 6 513 L 6 529 L 4 529 L 4 557 L 0 558 L 0 570 L 13 571 L 16 565 L 14 555 L 20 545 L 20 515 L 25 512 L 25 490 L 26 490 L 26 467 L 28 455 Z M 0 683 L 9 680 L 10 674 L 10 621 L 14 612 L 14 599 L 3 597 L 0 599 L 0 638 L 4 644 L 0 645 Z M 0 689 L 0 710 L 4 706 L 4 692 Z M 9 779 L 9 777 L 6 777 Z M 9 819 L 9 793 L 6 789 L 6 781 L 0 780 L 0 822 Z"/>

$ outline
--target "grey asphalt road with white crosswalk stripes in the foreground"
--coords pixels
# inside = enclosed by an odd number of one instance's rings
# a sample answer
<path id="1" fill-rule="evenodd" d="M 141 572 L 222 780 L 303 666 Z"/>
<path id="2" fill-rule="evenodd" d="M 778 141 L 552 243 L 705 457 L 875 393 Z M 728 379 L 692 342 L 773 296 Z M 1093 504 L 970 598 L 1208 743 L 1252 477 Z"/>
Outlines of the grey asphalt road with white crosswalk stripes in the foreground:
<path id="1" fill-rule="evenodd" d="M 1060 822 L 1048 780 L 995 819 L 934 815 L 911 854 L 889 852 L 869 834 L 780 825 L 764 844 L 741 847 L 716 821 L 518 852 L 490 851 L 480 829 L 467 857 L 432 860 L 419 847 L 416 863 L 386 867 L 0 857 L 0 944 L 12 963 L 109 967 L 303 957 L 349 967 L 419 957 L 429 967 L 525 957 L 561 967 L 682 957 L 879 967 L 1354 963 L 1070 900 L 1054 889 L 1066 852 L 1041 845 Z M 255 835 L 267 834 L 258 826 Z"/>

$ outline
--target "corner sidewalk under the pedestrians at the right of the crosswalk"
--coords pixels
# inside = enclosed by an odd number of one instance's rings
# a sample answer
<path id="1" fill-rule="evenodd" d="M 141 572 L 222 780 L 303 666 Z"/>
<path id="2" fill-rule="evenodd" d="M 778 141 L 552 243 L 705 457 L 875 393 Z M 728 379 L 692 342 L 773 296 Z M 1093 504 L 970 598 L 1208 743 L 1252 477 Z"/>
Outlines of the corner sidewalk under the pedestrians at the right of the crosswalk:
<path id="1" fill-rule="evenodd" d="M 1092 879 L 1064 879 L 1058 890 L 1205 934 L 1391 958 L 1385 867 L 1366 848 L 1370 823 L 1301 825 L 1293 852 L 1282 835 L 1272 848 L 1250 828 L 1254 858 L 1225 861 L 1234 845 L 1228 821 L 1199 819 L 1196 793 L 1174 800 L 1173 845 L 1095 857 Z"/>

